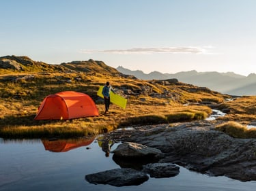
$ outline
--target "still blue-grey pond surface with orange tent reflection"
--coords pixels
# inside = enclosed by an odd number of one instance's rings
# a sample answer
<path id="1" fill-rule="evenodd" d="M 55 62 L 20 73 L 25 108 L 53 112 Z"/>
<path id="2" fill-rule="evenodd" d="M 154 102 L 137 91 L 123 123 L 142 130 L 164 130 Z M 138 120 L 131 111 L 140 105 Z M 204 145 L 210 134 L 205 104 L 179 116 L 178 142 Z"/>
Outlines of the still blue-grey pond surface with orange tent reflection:
<path id="1" fill-rule="evenodd" d="M 77 143 L 77 145 L 75 145 Z M 111 147 L 114 150 L 117 143 Z M 50 151 L 52 150 L 52 151 Z M 89 184 L 85 175 L 120 168 L 100 147 L 100 141 L 5 141 L 0 138 L 0 190 L 255 190 L 256 181 L 210 177 L 180 167 L 170 178 L 150 178 L 139 186 Z"/>

